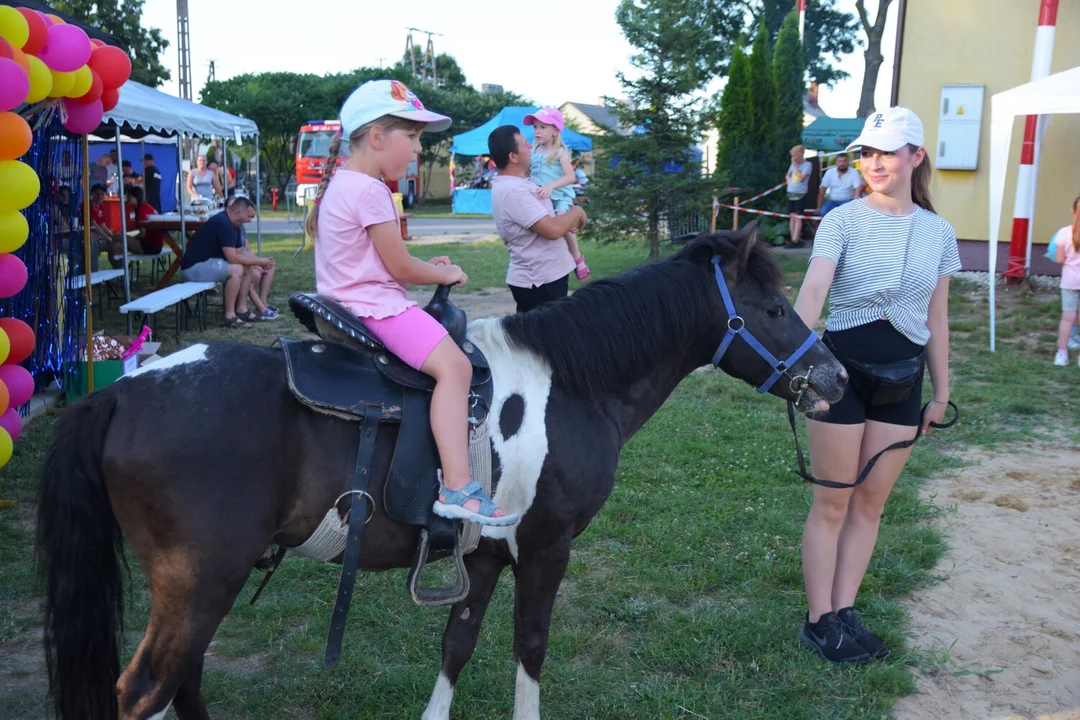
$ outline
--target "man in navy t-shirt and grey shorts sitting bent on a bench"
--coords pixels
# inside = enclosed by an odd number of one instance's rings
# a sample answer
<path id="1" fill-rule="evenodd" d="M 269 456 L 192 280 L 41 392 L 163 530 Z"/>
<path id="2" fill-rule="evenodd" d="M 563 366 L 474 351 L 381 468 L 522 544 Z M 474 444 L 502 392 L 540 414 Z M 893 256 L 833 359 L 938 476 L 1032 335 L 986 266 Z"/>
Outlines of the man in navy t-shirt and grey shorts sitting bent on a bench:
<path id="1" fill-rule="evenodd" d="M 252 201 L 238 198 L 195 231 L 180 261 L 180 276 L 185 281 L 225 284 L 226 327 L 251 327 L 249 323 L 237 316 L 237 299 L 247 297 L 252 268 L 269 269 L 273 266 L 270 258 L 241 252 L 244 244 L 240 229 L 254 217 Z"/>

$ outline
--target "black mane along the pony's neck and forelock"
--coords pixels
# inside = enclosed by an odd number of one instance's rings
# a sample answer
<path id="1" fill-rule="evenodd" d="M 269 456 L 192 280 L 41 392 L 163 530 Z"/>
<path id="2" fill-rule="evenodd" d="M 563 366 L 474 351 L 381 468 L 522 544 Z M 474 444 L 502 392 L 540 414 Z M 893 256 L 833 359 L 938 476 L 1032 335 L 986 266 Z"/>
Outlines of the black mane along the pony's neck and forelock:
<path id="1" fill-rule="evenodd" d="M 564 388 L 585 396 L 610 392 L 698 339 L 702 321 L 714 313 L 714 256 L 729 283 L 747 274 L 762 288 L 780 288 L 783 273 L 768 248 L 754 242 L 746 252 L 744 237 L 753 232 L 701 235 L 671 258 L 591 283 L 505 317 L 502 326 L 516 344 L 543 357 Z"/>

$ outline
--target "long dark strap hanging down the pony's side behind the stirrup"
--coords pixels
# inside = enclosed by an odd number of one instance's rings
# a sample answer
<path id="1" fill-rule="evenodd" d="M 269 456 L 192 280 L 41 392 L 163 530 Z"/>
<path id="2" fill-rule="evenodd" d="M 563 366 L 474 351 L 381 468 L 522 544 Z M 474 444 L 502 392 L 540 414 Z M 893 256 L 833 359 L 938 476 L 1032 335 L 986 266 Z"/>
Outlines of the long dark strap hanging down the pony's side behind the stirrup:
<path id="1" fill-rule="evenodd" d="M 356 467 L 352 477 L 352 495 L 349 512 L 349 540 L 345 546 L 345 558 L 341 560 L 341 580 L 338 583 L 337 600 L 334 602 L 334 615 L 330 617 L 330 631 L 326 638 L 326 655 L 323 665 L 334 667 L 341 660 L 341 640 L 345 637 L 345 621 L 349 616 L 349 603 L 352 601 L 352 589 L 356 583 L 356 571 L 360 569 L 360 548 L 364 538 L 364 524 L 368 516 L 368 503 L 372 495 L 367 487 L 372 480 L 372 462 L 375 459 L 375 438 L 379 429 L 382 410 L 369 405 L 365 408 L 364 420 L 360 426 L 360 447 L 356 449 Z M 372 503 L 374 510 L 374 503 Z"/>

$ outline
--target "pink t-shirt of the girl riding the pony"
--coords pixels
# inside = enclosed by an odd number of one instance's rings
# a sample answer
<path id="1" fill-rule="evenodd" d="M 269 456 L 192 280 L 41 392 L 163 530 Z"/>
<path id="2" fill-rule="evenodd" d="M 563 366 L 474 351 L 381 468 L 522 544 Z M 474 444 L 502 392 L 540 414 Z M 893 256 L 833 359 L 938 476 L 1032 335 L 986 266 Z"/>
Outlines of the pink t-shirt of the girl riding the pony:
<path id="1" fill-rule="evenodd" d="M 394 280 L 367 231 L 397 222 L 390 188 L 364 173 L 338 168 L 319 205 L 315 287 L 360 317 L 391 317 L 416 303 Z"/>

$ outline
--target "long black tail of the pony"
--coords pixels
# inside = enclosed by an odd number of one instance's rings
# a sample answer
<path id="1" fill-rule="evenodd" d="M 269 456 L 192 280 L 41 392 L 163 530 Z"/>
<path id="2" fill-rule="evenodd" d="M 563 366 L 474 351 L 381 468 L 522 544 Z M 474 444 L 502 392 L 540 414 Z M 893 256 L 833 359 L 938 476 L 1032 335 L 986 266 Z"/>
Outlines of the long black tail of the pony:
<path id="1" fill-rule="evenodd" d="M 102 474 L 116 406 L 113 393 L 95 393 L 60 416 L 38 498 L 45 664 L 58 720 L 118 716 L 123 538 Z"/>

